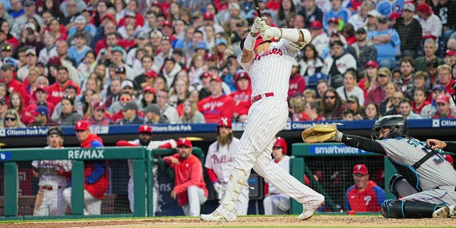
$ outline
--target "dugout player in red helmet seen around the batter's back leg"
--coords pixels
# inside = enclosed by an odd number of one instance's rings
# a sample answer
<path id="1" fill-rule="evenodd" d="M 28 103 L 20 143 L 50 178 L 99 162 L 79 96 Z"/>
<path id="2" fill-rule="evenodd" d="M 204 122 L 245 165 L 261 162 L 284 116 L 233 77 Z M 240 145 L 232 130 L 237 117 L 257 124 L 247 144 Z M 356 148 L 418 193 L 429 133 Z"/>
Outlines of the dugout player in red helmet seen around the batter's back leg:
<path id="1" fill-rule="evenodd" d="M 272 146 L 271 162 L 276 163 L 286 172 L 290 170 L 290 157 L 287 154 L 287 146 L 284 138 L 276 137 Z M 290 209 L 290 197 L 280 192 L 274 185 L 266 181 L 265 195 L 263 199 L 264 214 L 286 214 Z"/>

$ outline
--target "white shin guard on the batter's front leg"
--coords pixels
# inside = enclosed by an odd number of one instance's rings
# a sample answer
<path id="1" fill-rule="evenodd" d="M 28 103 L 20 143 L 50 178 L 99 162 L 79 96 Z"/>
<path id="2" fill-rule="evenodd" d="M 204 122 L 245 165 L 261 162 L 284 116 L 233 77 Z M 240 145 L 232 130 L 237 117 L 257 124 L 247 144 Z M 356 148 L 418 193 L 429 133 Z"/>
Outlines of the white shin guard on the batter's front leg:
<path id="1" fill-rule="evenodd" d="M 222 207 L 229 212 L 234 210 L 234 206 L 236 205 L 237 198 L 239 197 L 239 193 L 241 193 L 242 187 L 249 187 L 247 184 L 247 173 L 244 170 L 239 170 L 234 168 L 232 172 L 229 174 L 229 180 L 227 184 L 227 191 L 225 192 L 224 199 L 222 201 Z M 253 187 L 249 187 L 253 189 Z"/>

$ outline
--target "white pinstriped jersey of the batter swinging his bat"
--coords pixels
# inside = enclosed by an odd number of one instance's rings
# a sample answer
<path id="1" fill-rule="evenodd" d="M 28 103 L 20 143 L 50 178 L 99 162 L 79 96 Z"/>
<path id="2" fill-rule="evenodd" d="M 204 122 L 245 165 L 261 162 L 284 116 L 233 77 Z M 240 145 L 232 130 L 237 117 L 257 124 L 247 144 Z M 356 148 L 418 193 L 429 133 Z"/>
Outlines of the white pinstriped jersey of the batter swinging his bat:
<path id="1" fill-rule="evenodd" d="M 237 61 L 252 78 L 252 95 L 271 92 L 286 95 L 293 59 L 299 50 L 295 43 L 282 38 L 279 42 L 271 42 L 268 50 L 254 53 L 247 63 L 242 63 L 242 56 L 239 56 Z"/>

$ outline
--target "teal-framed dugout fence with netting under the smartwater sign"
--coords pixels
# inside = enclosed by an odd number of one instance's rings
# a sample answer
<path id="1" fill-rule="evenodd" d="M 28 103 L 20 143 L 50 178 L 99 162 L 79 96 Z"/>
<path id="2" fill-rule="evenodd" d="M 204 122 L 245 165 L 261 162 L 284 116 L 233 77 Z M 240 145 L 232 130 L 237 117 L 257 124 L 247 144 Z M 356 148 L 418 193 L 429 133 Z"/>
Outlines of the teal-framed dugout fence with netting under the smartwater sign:
<path id="1" fill-rule="evenodd" d="M 354 184 L 351 174 L 353 165 L 358 163 L 366 163 L 371 169 L 369 170 L 371 179 L 375 174 L 373 171 L 383 170 L 384 172 L 379 172 L 377 184 L 385 190 L 386 199 L 394 197 L 387 188 L 388 180 L 396 170 L 387 157 L 340 143 L 294 143 L 291 151 L 294 155 L 290 162 L 291 175 L 301 182 L 304 182 L 304 175 L 309 178 L 311 187 L 325 196 L 325 212 L 345 212 L 344 195 L 346 189 Z M 326 175 L 319 175 L 320 178 L 317 180 L 318 178 L 315 177 L 318 175 L 317 172 L 322 172 L 321 170 L 326 172 Z M 301 212 L 302 204 L 291 199 L 290 214 Z"/>

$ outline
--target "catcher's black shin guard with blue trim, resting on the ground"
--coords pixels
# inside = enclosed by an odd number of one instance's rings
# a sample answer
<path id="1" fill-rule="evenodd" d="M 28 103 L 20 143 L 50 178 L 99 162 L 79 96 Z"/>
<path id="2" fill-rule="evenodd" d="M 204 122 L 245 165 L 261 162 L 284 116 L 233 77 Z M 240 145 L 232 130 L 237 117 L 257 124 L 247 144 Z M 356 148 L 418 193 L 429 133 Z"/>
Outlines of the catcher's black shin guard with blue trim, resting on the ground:
<path id="1" fill-rule="evenodd" d="M 421 219 L 432 217 L 447 217 L 448 210 L 440 209 L 442 207 L 448 208 L 445 206 L 445 204 L 432 204 L 430 202 L 418 200 L 402 201 L 398 199 L 386 199 L 383 202 L 380 211 L 383 217 L 387 219 Z M 437 211 L 443 212 L 439 213 L 439 216 L 435 216 L 434 212 Z"/>

